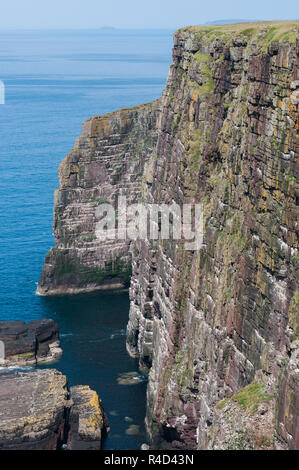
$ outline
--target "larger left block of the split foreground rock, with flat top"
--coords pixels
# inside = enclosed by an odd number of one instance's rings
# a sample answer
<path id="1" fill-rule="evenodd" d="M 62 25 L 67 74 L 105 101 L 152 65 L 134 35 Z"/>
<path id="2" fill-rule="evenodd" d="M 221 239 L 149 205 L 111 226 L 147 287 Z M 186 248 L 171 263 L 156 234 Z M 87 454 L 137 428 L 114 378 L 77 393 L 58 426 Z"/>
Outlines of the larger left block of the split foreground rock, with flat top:
<path id="1" fill-rule="evenodd" d="M 0 376 L 0 449 L 54 450 L 64 439 L 67 380 L 55 370 Z"/>

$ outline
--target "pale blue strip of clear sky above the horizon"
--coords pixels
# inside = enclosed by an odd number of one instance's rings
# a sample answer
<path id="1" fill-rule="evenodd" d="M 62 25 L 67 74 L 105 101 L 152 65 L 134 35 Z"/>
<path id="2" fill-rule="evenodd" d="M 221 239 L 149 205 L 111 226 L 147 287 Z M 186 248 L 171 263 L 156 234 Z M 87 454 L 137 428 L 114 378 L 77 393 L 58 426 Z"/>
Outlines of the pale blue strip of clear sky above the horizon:
<path id="1" fill-rule="evenodd" d="M 222 19 L 299 19 L 298 0 L 0 0 L 0 29 L 176 29 Z"/>

